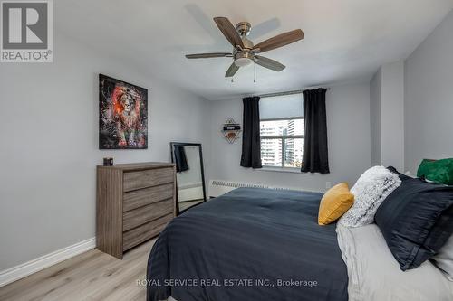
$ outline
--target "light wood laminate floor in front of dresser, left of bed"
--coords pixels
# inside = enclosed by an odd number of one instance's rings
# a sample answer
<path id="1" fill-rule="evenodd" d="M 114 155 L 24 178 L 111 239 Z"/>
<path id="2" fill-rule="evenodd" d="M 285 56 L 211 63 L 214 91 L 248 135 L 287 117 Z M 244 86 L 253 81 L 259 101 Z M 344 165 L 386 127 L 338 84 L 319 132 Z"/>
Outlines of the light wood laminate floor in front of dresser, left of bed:
<path id="1" fill-rule="evenodd" d="M 5 287 L 0 300 L 14 301 L 135 301 L 145 300 L 150 240 L 124 254 L 122 260 L 97 249 L 45 268 Z"/>

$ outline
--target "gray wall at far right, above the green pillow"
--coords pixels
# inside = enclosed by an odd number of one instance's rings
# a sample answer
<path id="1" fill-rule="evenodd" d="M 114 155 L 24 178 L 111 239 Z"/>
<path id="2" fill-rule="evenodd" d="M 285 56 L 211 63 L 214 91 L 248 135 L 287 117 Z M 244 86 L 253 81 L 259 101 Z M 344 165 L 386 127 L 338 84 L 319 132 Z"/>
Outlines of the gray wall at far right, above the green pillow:
<path id="1" fill-rule="evenodd" d="M 405 166 L 453 157 L 453 11 L 405 63 Z"/>

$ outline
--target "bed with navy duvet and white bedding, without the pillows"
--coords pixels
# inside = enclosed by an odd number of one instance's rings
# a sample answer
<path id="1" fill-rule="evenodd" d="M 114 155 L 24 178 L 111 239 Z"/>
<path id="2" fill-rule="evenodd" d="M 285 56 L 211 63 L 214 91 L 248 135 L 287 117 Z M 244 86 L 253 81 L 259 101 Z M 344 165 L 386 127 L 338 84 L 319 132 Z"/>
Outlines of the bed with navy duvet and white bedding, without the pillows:
<path id="1" fill-rule="evenodd" d="M 318 225 L 322 196 L 240 188 L 183 213 L 151 250 L 147 300 L 451 300 L 431 262 L 401 271 L 375 224 Z"/>

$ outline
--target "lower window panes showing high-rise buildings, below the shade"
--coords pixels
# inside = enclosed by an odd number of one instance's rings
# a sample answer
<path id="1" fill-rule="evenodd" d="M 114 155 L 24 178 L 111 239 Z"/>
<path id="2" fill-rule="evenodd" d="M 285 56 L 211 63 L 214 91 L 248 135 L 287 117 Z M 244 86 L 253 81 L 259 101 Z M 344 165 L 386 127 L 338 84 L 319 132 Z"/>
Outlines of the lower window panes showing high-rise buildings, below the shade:
<path id="1" fill-rule="evenodd" d="M 261 162 L 269 167 L 302 165 L 304 119 L 287 118 L 260 121 Z"/>

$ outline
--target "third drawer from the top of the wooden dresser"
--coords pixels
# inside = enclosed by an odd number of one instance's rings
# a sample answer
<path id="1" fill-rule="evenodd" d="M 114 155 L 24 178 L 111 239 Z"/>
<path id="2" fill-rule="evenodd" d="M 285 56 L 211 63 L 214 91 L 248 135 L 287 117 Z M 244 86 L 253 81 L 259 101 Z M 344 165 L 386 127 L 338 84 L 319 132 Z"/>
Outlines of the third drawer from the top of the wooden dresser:
<path id="1" fill-rule="evenodd" d="M 122 217 L 122 230 L 127 231 L 146 222 L 158 219 L 167 214 L 173 214 L 173 199 L 155 202 L 129 212 L 124 212 Z"/>

